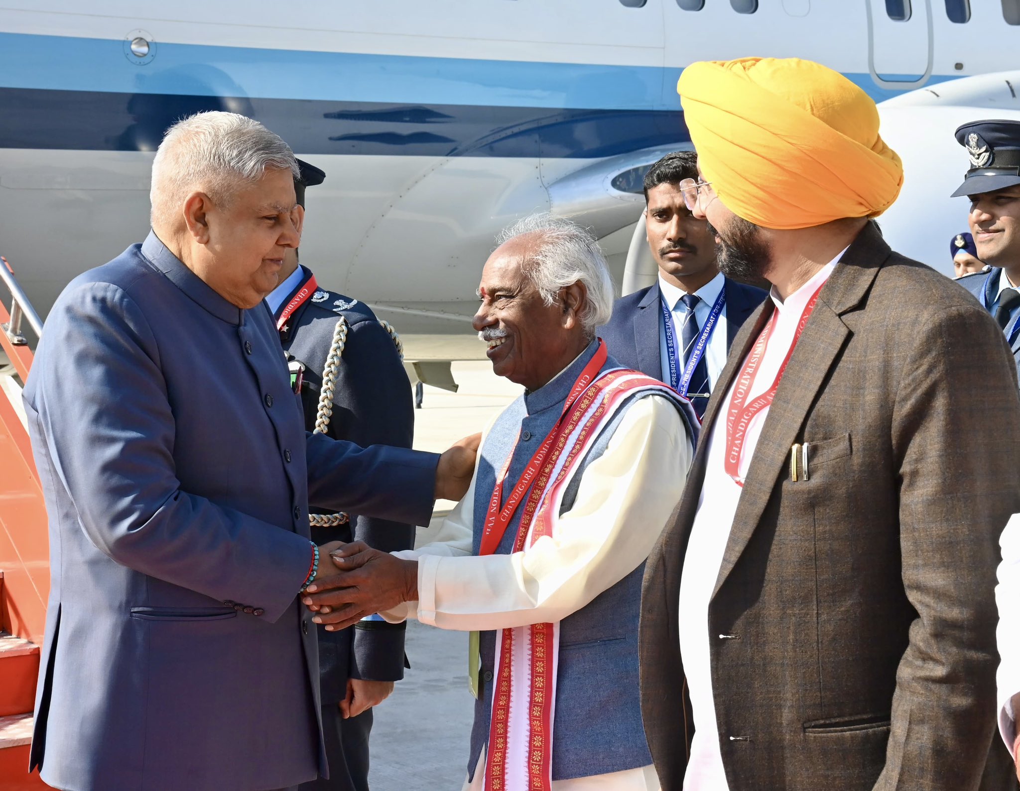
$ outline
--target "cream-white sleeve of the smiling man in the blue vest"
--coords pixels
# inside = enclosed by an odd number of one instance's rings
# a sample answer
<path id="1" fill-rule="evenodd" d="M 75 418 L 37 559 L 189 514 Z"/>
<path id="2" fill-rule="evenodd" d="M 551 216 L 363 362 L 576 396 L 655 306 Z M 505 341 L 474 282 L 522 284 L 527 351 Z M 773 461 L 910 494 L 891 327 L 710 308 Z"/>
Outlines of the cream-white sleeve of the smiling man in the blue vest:
<path id="1" fill-rule="evenodd" d="M 642 399 L 584 470 L 553 536 L 526 553 L 419 556 L 418 620 L 443 629 L 503 629 L 580 610 L 648 558 L 679 500 L 692 457 L 676 409 L 662 397 Z"/>

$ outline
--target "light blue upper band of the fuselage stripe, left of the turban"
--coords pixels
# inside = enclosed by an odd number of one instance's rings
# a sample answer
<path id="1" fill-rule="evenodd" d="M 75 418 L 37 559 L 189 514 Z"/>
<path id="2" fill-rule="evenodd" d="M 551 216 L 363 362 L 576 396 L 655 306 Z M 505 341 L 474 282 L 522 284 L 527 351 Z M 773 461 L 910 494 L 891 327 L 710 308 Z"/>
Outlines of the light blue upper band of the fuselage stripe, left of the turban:
<path id="1" fill-rule="evenodd" d="M 122 94 L 244 96 L 386 104 L 678 110 L 663 69 L 156 42 L 133 62 L 128 42 L 0 33 L 0 86 Z M 667 81 L 669 82 L 669 81 Z"/>

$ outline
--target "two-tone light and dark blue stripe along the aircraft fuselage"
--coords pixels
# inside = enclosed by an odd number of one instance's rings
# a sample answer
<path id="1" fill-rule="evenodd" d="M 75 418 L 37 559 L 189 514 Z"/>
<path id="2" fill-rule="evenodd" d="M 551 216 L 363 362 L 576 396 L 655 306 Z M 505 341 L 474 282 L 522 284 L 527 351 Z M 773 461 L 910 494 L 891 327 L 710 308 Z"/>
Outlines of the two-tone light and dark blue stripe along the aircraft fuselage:
<path id="1" fill-rule="evenodd" d="M 306 154 L 596 158 L 690 140 L 679 68 L 158 42 L 132 57 L 124 41 L 0 33 L 0 148 L 153 151 L 210 109 Z"/>

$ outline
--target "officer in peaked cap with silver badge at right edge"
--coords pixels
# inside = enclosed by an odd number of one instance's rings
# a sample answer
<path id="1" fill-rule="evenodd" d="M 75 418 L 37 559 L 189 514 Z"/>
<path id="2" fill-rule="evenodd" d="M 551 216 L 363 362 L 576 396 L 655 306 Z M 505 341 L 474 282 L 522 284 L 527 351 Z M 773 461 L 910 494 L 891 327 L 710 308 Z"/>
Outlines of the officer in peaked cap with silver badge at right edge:
<path id="1" fill-rule="evenodd" d="M 994 316 L 1020 368 L 1020 121 L 972 121 L 956 130 L 970 169 L 954 198 L 967 196 L 967 221 L 987 272 L 959 282 Z"/>

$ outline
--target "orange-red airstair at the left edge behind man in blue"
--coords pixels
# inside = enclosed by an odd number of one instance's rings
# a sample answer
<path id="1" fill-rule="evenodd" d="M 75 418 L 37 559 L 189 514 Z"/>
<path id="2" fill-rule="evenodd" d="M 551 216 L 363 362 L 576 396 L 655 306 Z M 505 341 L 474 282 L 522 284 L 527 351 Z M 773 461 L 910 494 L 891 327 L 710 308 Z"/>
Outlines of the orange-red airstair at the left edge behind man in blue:
<path id="1" fill-rule="evenodd" d="M 9 311 L 0 302 L 0 791 L 28 791 L 49 788 L 28 771 L 50 563 L 46 508 L 21 408 L 33 359 L 26 333 L 38 338 L 43 324 L 2 257 L 0 280 L 11 298 Z"/>

